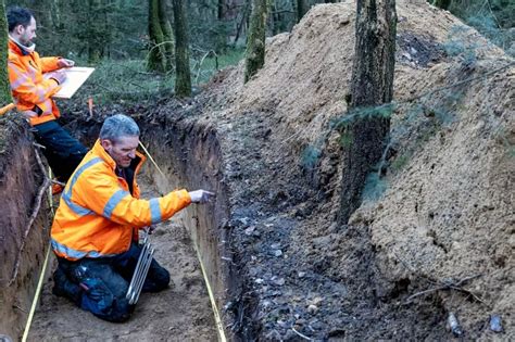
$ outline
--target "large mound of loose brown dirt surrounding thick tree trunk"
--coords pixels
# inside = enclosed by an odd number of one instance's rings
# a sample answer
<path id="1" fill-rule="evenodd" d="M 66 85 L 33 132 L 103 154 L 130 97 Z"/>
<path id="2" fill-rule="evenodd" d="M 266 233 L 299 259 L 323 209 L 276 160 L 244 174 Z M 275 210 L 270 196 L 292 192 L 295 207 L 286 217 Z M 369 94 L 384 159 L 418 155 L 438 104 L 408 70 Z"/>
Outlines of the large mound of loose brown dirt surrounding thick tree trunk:
<path id="1" fill-rule="evenodd" d="M 329 127 L 347 110 L 354 8 L 315 7 L 251 81 L 240 65 L 206 96 L 261 333 L 445 339 L 455 312 L 468 338 L 492 333 L 491 314 L 513 338 L 514 62 L 448 12 L 399 3 L 386 193 L 339 227 Z"/>

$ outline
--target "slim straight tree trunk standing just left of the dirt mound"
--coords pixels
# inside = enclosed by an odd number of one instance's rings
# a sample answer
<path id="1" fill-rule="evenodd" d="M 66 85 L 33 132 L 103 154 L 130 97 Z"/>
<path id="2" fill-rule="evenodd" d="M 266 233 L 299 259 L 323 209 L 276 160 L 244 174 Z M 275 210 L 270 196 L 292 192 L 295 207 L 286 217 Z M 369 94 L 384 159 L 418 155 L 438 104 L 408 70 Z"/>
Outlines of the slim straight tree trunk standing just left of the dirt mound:
<path id="1" fill-rule="evenodd" d="M 174 5 L 175 31 L 175 94 L 191 96 L 191 73 L 189 67 L 188 29 L 186 8 L 183 0 L 172 0 Z"/>

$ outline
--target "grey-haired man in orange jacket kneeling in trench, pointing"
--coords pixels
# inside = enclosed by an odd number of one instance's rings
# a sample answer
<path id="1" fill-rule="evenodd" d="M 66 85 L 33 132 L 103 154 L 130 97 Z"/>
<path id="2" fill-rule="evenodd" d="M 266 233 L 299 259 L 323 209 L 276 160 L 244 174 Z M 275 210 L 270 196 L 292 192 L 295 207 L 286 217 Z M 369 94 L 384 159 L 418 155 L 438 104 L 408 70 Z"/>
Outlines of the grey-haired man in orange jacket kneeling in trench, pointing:
<path id="1" fill-rule="evenodd" d="M 140 200 L 136 176 L 145 156 L 136 151 L 138 143 L 133 118 L 105 119 L 100 139 L 66 185 L 52 225 L 59 261 L 53 293 L 110 321 L 124 321 L 134 309 L 125 295 L 142 250 L 138 229 L 214 195 L 178 190 Z M 142 290 L 160 291 L 168 282 L 168 271 L 153 259 Z"/>

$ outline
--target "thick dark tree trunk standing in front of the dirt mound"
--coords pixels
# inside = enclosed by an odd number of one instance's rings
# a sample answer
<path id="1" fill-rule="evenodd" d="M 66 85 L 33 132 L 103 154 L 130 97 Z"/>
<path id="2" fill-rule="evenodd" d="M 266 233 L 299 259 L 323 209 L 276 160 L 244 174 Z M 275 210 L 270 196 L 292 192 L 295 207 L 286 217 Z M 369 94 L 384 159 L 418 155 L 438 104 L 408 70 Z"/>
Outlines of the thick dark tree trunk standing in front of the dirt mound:
<path id="1" fill-rule="evenodd" d="M 351 80 L 351 113 L 392 100 L 397 14 L 394 0 L 357 0 L 355 56 Z M 380 161 L 390 118 L 359 115 L 347 127 L 343 151 L 340 221 L 360 206 L 366 177 Z"/>

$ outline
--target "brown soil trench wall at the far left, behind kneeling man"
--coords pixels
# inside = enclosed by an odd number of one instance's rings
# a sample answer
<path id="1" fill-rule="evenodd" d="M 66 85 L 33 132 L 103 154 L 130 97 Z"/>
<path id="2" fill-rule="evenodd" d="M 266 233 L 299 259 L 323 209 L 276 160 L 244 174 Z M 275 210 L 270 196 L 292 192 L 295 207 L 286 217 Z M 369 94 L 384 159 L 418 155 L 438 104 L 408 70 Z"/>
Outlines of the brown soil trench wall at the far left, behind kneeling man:
<path id="1" fill-rule="evenodd" d="M 48 245 L 46 193 L 36 211 L 41 175 L 28 125 L 0 117 L 0 334 L 13 340 L 23 333 Z"/>

